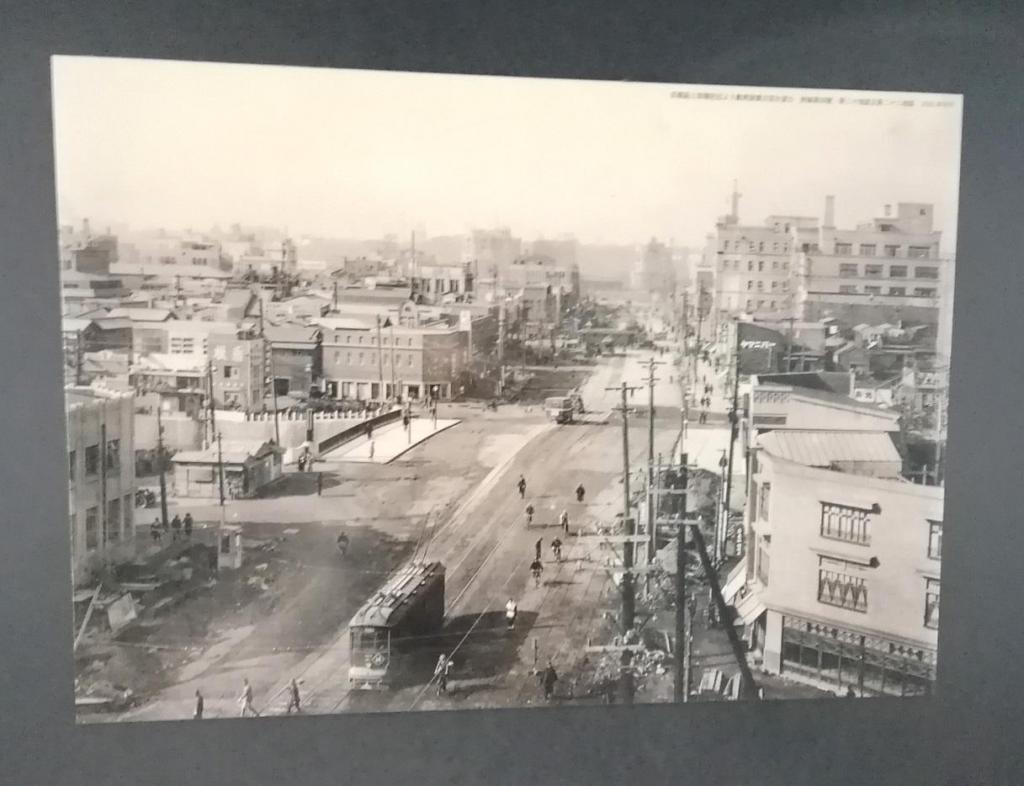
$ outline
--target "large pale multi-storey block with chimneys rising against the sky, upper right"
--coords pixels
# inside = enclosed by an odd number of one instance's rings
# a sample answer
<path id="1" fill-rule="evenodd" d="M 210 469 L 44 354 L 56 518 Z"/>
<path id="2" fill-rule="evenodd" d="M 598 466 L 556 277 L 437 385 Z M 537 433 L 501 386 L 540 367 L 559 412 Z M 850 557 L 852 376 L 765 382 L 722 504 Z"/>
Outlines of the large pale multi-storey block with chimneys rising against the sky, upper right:
<path id="1" fill-rule="evenodd" d="M 933 209 L 900 203 L 885 215 L 850 229 L 835 225 L 834 196 L 824 218 L 773 215 L 764 225 L 742 225 L 739 194 L 710 238 L 716 257 L 715 313 L 721 322 L 744 314 L 756 319 L 848 325 L 912 319 L 940 321 L 948 344 L 952 265 L 940 249 Z"/>

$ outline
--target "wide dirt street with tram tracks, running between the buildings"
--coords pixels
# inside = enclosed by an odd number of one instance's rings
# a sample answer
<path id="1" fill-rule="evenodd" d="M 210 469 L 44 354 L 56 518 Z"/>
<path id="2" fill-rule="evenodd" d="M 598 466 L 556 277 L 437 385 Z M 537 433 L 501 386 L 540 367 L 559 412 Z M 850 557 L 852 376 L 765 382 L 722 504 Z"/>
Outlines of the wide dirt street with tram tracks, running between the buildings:
<path id="1" fill-rule="evenodd" d="M 637 359 L 608 358 L 595 369 L 588 386 L 589 409 L 608 409 L 617 403 L 616 394 L 603 389 L 621 383 L 624 370 L 636 369 Z M 640 382 L 634 379 L 627 381 L 630 384 Z M 667 387 L 667 380 L 663 385 Z M 636 398 L 640 399 L 645 392 L 638 391 Z M 663 399 L 663 395 L 658 391 L 657 398 Z M 464 687 L 459 694 L 464 706 L 467 705 L 465 702 L 487 706 L 524 703 L 536 688 L 536 682 L 529 675 L 534 647 L 542 657 L 554 657 L 561 663 L 570 651 L 579 649 L 579 643 L 585 641 L 592 627 L 591 622 L 599 617 L 601 610 L 609 604 L 614 606 L 613 593 L 609 595 L 611 584 L 608 572 L 578 571 L 573 567 L 578 564 L 574 561 L 556 565 L 551 562 L 549 543 L 556 532 L 553 525 L 562 509 L 568 510 L 574 531 L 614 524 L 615 515 L 622 510 L 622 428 L 617 414 L 604 426 L 560 427 L 547 423 L 537 409 L 526 412 L 503 407 L 498 416 L 503 420 L 513 419 L 515 425 L 512 430 L 516 432 L 513 437 L 495 440 L 486 436 L 490 427 L 485 427 L 485 422 L 495 418 L 495 413 L 478 413 L 478 420 L 474 421 L 471 414 L 460 412 L 458 417 L 464 419 L 462 425 L 414 448 L 408 460 L 399 463 L 408 461 L 409 469 L 417 468 L 419 480 L 413 485 L 418 487 L 419 495 L 404 504 L 406 510 L 417 515 L 403 524 L 403 532 L 395 531 L 394 535 L 422 539 L 420 554 L 428 559 L 440 560 L 447 568 L 445 637 L 433 650 L 422 653 L 423 670 L 413 685 L 385 695 L 352 693 L 347 681 L 347 625 L 341 616 L 332 612 L 330 616 L 338 620 L 335 632 L 322 639 L 306 653 L 293 651 L 269 655 L 264 654 L 262 649 L 252 647 L 249 643 L 254 641 L 254 637 L 271 644 L 260 634 L 260 629 L 267 626 L 265 623 L 257 622 L 255 630 L 241 630 L 242 638 L 238 642 L 225 640 L 220 653 L 204 654 L 200 662 L 189 668 L 187 674 L 179 676 L 172 688 L 156 701 L 129 713 L 128 717 L 186 717 L 189 697 L 196 687 L 203 688 L 208 697 L 208 715 L 234 714 L 237 706 L 232 697 L 238 695 L 243 675 L 248 675 L 254 683 L 256 704 L 264 714 L 284 712 L 284 688 L 292 676 L 303 681 L 303 709 L 309 713 L 426 708 L 438 702 L 449 706 L 451 703 L 443 703 L 443 699 L 438 700 L 425 690 L 429 688 L 430 666 L 436 660 L 439 648 L 446 652 L 455 650 L 458 670 L 454 679 L 457 685 L 461 683 Z M 509 427 L 503 428 L 509 430 Z M 481 436 L 475 437 L 482 440 L 479 445 L 463 444 L 466 433 L 477 433 L 478 429 L 483 429 L 478 432 Z M 678 416 L 659 417 L 656 432 L 656 449 L 668 454 L 678 435 Z M 637 470 L 646 460 L 646 418 L 632 418 L 630 452 Z M 484 443 L 487 444 L 485 456 L 479 452 Z M 461 445 L 459 454 L 453 453 L 457 444 Z M 482 466 L 474 464 L 474 460 L 481 458 L 484 461 Z M 372 466 L 362 467 L 365 469 L 359 470 L 360 474 L 385 471 L 384 468 L 374 470 Z M 344 470 L 346 473 L 351 471 L 351 465 Z M 408 471 L 398 464 L 391 470 L 392 473 Z M 470 482 L 458 483 L 460 474 Z M 515 488 L 520 474 L 527 479 L 525 500 L 519 498 Z M 436 479 L 424 483 L 435 475 Z M 323 504 L 334 506 L 344 503 L 347 507 L 349 503 L 354 503 L 366 510 L 364 491 L 369 490 L 364 485 L 366 481 L 372 481 L 372 478 L 364 478 L 351 491 L 348 491 L 348 482 L 344 483 L 338 491 L 347 493 L 341 498 L 334 497 L 336 503 L 328 497 L 323 499 Z M 581 482 L 588 489 L 583 505 L 577 504 L 573 496 L 573 489 Z M 384 483 L 383 488 L 378 487 L 380 490 L 393 489 L 391 494 L 395 498 L 390 507 L 394 508 L 401 505 L 400 499 L 409 499 L 408 492 L 401 488 L 403 485 L 399 480 L 397 484 Z M 361 499 L 362 504 L 357 499 Z M 382 498 L 372 507 L 383 512 L 389 507 L 388 501 Z M 524 521 L 527 501 L 537 509 L 535 518 L 538 526 L 530 530 L 526 529 Z M 255 515 L 256 509 L 259 509 L 260 518 L 265 522 L 261 527 L 265 531 L 273 527 L 272 520 L 281 521 L 280 526 L 284 526 L 292 518 L 292 511 L 297 512 L 296 506 L 301 509 L 319 504 L 318 498 L 308 496 L 261 500 L 252 503 L 252 513 Z M 267 510 L 268 505 L 278 513 Z M 282 510 L 282 506 L 287 508 Z M 397 513 L 397 509 L 394 512 Z M 298 518 L 316 519 L 319 518 L 317 514 L 318 511 L 303 511 Z M 424 520 L 425 528 L 415 531 L 422 526 L 418 522 Z M 313 524 L 311 522 L 309 526 Z M 384 521 L 374 525 L 388 526 Z M 315 525 L 309 536 L 329 537 L 332 526 Z M 303 537 L 305 531 L 293 537 Z M 324 534 L 317 535 L 316 532 Z M 541 587 L 534 587 L 528 565 L 532 560 L 534 543 L 539 537 L 544 538 L 546 582 Z M 570 542 L 564 550 L 570 558 L 583 556 L 580 551 Z M 353 567 L 358 570 L 358 566 Z M 364 584 L 349 586 L 345 591 L 344 619 L 372 591 L 372 586 Z M 352 595 L 352 592 L 359 595 Z M 496 627 L 504 627 L 501 616 L 509 597 L 519 602 L 520 624 L 513 638 L 503 637 L 496 641 Z M 321 592 L 309 586 L 302 602 L 289 603 L 288 610 L 282 609 L 278 615 L 281 619 L 268 630 L 272 632 L 281 624 L 303 623 L 307 617 L 323 616 L 338 602 L 337 596 L 323 597 Z M 319 611 L 316 611 L 317 607 Z M 295 619 L 289 623 L 284 619 L 293 616 L 301 616 L 303 620 Z M 471 686 L 475 686 L 472 691 L 469 690 Z"/>

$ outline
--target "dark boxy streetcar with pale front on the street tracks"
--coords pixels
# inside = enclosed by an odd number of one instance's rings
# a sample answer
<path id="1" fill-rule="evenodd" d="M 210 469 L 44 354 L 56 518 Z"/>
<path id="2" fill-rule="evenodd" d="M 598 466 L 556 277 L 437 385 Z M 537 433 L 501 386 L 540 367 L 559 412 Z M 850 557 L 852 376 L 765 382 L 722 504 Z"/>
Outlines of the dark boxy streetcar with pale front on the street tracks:
<path id="1" fill-rule="evenodd" d="M 394 573 L 348 624 L 353 689 L 383 689 L 406 670 L 411 653 L 444 623 L 444 566 L 413 562 Z"/>

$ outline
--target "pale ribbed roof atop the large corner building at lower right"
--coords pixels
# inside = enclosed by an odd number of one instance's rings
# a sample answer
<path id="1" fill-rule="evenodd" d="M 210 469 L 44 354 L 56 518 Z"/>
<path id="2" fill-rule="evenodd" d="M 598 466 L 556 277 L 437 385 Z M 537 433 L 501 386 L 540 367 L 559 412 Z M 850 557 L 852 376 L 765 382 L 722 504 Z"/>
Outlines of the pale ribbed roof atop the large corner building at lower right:
<path id="1" fill-rule="evenodd" d="M 761 447 L 772 455 L 807 467 L 830 467 L 837 462 L 900 464 L 892 438 L 881 431 L 790 431 L 764 434 Z"/>

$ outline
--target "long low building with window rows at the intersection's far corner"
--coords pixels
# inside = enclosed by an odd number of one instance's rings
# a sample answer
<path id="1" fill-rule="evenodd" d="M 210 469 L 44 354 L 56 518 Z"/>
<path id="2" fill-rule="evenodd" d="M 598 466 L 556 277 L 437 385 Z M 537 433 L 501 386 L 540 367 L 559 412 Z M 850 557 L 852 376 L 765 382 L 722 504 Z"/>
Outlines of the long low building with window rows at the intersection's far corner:
<path id="1" fill-rule="evenodd" d="M 333 398 L 380 401 L 451 398 L 469 363 L 469 333 L 393 321 L 325 318 L 324 385 Z"/>

